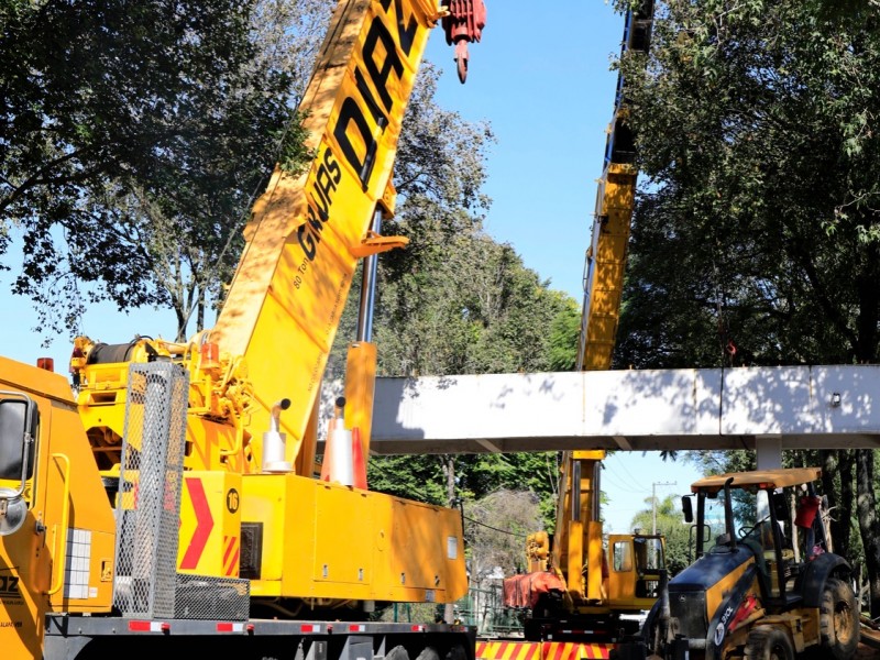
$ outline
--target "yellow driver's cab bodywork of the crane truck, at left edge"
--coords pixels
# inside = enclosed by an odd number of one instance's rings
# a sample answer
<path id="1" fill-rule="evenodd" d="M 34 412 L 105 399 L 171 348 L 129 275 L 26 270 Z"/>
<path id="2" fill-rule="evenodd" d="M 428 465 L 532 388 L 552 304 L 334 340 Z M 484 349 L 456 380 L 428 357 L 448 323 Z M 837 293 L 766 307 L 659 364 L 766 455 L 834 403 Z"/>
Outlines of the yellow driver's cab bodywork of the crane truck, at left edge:
<path id="1" fill-rule="evenodd" d="M 40 409 L 28 516 L 18 531 L 0 537 L 0 648 L 10 658 L 38 658 L 45 613 L 110 610 L 116 524 L 65 380 L 0 359 L 0 389 L 24 392 Z M 75 581 L 66 571 L 68 539 L 84 551 L 73 556 Z M 53 582 L 58 591 L 50 595 Z"/>

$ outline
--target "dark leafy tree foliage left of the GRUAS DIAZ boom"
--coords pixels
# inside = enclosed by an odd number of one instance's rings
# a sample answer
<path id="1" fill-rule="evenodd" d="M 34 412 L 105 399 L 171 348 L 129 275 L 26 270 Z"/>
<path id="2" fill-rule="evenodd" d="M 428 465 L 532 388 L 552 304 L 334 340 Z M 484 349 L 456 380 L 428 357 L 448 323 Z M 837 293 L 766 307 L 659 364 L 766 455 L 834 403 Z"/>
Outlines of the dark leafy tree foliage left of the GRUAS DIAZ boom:
<path id="1" fill-rule="evenodd" d="M 110 299 L 179 337 L 217 299 L 302 84 L 261 51 L 271 4 L 3 3 L 0 251 L 14 227 L 44 334 Z"/>

